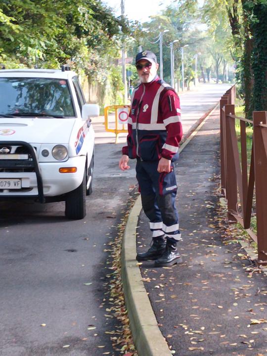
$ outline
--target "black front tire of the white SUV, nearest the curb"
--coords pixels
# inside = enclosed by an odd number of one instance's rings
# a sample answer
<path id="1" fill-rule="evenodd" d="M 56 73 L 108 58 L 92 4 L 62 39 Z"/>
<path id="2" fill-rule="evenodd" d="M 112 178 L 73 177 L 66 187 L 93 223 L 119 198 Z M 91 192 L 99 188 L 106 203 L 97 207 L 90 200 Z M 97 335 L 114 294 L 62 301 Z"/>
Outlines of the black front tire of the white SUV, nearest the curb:
<path id="1" fill-rule="evenodd" d="M 86 216 L 86 171 L 78 188 L 67 194 L 65 216 L 72 220 L 84 219 Z"/>

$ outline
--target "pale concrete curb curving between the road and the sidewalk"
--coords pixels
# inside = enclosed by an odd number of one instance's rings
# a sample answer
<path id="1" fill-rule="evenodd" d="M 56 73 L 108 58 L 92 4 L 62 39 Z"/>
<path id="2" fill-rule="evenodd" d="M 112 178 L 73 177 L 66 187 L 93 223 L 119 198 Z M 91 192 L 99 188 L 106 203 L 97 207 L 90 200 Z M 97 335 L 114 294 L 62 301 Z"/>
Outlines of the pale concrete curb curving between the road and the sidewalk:
<path id="1" fill-rule="evenodd" d="M 179 153 L 197 134 L 206 119 L 217 109 L 219 103 L 203 115 L 189 132 L 179 148 Z M 196 127 L 197 126 L 197 127 Z M 136 256 L 136 226 L 142 209 L 141 197 L 138 196 L 129 215 L 122 242 L 122 283 L 130 326 L 138 356 L 173 355 L 163 337 L 147 296 L 141 271 Z"/>

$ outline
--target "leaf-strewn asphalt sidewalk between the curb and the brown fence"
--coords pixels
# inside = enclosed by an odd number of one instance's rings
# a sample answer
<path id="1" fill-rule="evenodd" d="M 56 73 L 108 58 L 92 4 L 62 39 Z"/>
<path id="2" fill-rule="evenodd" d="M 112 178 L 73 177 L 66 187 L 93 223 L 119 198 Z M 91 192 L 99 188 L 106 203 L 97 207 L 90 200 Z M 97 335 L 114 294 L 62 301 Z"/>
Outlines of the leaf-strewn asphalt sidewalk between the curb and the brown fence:
<path id="1" fill-rule="evenodd" d="M 154 262 L 144 262 L 141 274 L 174 355 L 266 356 L 267 278 L 252 273 L 238 243 L 223 243 L 215 219 L 220 209 L 219 142 L 215 110 L 177 163 L 183 263 L 155 268 Z M 142 252 L 151 241 L 143 212 L 137 231 L 137 251 Z"/>

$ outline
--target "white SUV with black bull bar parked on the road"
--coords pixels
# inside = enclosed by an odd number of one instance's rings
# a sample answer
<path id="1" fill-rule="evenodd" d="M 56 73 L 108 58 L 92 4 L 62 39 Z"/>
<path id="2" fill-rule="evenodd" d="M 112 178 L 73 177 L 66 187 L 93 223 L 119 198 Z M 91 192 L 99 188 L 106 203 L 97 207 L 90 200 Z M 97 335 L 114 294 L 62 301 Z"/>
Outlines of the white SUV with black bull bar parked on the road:
<path id="1" fill-rule="evenodd" d="M 83 219 L 98 115 L 69 66 L 0 70 L 0 200 L 64 200 L 66 217 Z"/>

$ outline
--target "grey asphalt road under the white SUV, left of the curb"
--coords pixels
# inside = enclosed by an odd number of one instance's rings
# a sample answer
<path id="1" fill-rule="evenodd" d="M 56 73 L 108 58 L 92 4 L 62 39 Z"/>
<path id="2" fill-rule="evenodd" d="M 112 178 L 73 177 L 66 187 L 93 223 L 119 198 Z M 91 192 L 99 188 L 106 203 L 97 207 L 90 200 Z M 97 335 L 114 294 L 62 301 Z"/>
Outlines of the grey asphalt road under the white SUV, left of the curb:
<path id="1" fill-rule="evenodd" d="M 228 87 L 181 95 L 185 132 Z M 120 172 L 122 143 L 110 143 L 114 135 L 99 120 L 94 128 L 94 192 L 84 220 L 66 220 L 64 203 L 0 202 L 0 356 L 121 355 L 106 334 L 121 334 L 122 325 L 106 311 L 104 250 L 135 184 L 134 163 Z"/>

